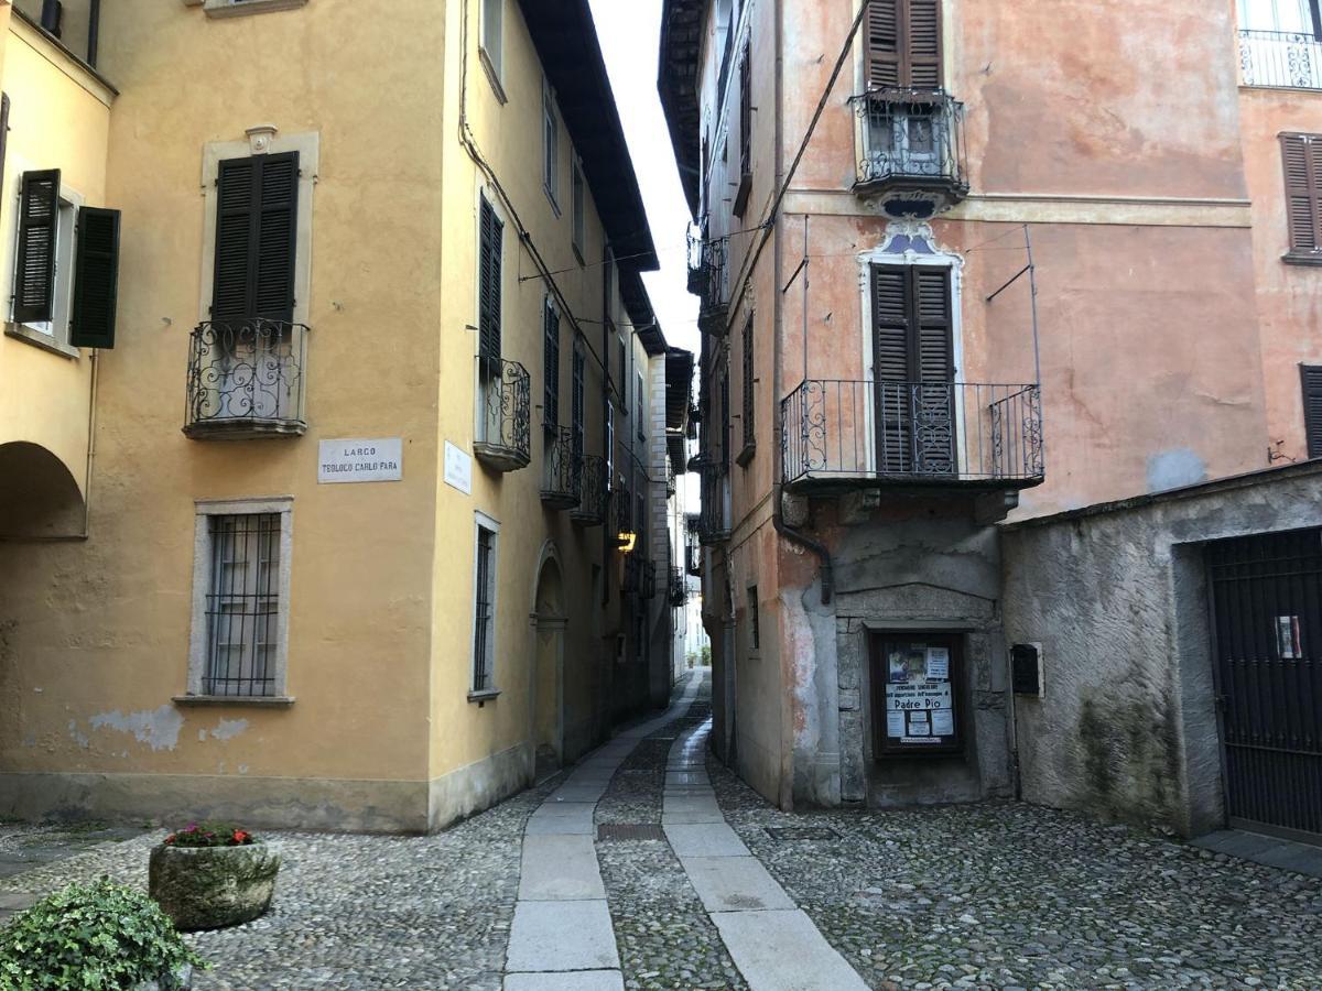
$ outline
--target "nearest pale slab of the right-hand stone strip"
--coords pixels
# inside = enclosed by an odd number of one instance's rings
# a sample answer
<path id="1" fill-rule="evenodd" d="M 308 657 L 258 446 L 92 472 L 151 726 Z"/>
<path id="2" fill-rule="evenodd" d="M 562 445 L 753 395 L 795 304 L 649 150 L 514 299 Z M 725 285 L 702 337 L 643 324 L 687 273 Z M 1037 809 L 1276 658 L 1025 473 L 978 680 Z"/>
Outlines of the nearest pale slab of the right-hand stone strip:
<path id="1" fill-rule="evenodd" d="M 798 909 L 714 912 L 752 991 L 867 991 L 867 984 Z"/>

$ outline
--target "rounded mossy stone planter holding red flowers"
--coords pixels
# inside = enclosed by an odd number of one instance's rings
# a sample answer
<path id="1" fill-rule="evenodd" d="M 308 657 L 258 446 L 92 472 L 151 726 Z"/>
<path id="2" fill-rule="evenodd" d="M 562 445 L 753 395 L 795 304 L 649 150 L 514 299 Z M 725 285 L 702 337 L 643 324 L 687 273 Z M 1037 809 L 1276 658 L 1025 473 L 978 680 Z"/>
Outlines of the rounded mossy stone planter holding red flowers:
<path id="1" fill-rule="evenodd" d="M 175 926 L 223 929 L 259 918 L 271 906 L 280 855 L 264 843 L 245 847 L 152 850 L 148 888 Z"/>

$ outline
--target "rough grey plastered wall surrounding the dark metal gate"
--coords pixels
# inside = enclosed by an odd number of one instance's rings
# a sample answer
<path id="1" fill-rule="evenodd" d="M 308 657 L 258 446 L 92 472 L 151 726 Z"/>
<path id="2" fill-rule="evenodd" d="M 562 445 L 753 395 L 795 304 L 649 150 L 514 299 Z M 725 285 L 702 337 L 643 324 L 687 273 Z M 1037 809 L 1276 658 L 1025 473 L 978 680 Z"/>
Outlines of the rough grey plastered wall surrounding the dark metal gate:
<path id="1" fill-rule="evenodd" d="M 1005 632 L 1039 642 L 1015 696 L 1023 797 L 1185 835 L 1224 821 L 1207 540 L 1322 525 L 1303 462 L 1005 527 Z"/>

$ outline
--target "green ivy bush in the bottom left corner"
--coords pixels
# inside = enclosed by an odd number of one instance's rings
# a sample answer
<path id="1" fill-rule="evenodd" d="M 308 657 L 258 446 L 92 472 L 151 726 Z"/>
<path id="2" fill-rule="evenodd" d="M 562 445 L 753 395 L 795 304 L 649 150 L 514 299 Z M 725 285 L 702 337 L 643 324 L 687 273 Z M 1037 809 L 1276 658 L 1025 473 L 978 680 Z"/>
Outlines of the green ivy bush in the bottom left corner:
<path id="1" fill-rule="evenodd" d="M 115 991 L 206 966 L 144 892 L 70 884 L 0 929 L 0 991 Z"/>

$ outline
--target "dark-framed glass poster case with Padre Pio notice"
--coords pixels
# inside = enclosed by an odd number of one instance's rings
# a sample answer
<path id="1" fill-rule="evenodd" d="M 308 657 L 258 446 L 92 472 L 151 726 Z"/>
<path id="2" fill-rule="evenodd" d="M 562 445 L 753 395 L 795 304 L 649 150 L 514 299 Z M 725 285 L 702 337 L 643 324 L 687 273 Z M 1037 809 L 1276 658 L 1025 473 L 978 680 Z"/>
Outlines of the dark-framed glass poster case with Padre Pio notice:
<path id="1" fill-rule="evenodd" d="M 878 756 L 958 751 L 958 638 L 883 636 L 873 646 Z"/>

